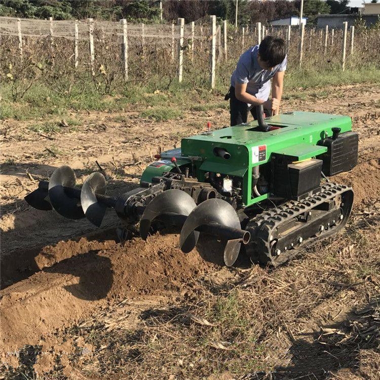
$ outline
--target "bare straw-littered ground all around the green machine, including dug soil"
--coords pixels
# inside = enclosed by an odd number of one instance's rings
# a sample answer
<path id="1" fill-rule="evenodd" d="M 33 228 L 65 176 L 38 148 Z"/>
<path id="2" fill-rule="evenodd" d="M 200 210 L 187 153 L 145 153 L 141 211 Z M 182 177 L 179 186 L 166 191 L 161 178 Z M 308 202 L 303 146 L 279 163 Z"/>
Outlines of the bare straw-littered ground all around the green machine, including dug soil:
<path id="1" fill-rule="evenodd" d="M 208 241 L 184 255 L 173 234 L 124 246 L 112 212 L 96 230 L 22 199 L 62 164 L 83 182 L 95 160 L 110 194 L 132 188 L 160 146 L 223 126 L 227 110 L 165 123 L 81 112 L 74 130 L 42 135 L 0 121 L 4 376 L 379 378 L 380 92 L 308 91 L 284 101 L 294 109 L 353 118 L 359 164 L 334 180 L 354 187 L 355 206 L 345 232 L 275 270 L 222 268 Z"/>

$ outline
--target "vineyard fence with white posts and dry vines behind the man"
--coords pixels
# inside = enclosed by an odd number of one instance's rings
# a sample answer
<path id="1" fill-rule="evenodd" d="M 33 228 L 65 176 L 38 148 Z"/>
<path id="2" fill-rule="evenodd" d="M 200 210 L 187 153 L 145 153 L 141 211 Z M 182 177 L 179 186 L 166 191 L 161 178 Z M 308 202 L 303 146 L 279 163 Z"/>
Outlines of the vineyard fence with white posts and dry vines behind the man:
<path id="1" fill-rule="evenodd" d="M 335 29 L 257 23 L 235 31 L 225 21 L 216 25 L 215 16 L 169 25 L 0 17 L 0 81 L 12 82 L 14 98 L 37 79 L 68 92 L 88 78 L 104 93 L 126 83 L 157 89 L 182 80 L 194 88 L 228 86 L 239 56 L 265 35 L 286 41 L 290 70 L 380 61 L 380 31 L 347 23 Z"/>

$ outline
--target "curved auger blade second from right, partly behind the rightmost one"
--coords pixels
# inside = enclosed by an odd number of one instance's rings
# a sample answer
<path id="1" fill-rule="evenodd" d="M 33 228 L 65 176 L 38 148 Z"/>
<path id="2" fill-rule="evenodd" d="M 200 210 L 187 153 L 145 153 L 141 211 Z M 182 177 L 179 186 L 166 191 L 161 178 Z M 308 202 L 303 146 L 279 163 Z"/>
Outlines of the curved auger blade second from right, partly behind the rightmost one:
<path id="1" fill-rule="evenodd" d="M 194 199 L 178 189 L 170 189 L 154 198 L 145 208 L 140 220 L 140 236 L 146 240 L 151 222 L 164 217 L 171 224 L 182 224 L 183 220 L 197 207 Z M 193 231 L 188 240 L 197 243 L 199 232 Z"/>

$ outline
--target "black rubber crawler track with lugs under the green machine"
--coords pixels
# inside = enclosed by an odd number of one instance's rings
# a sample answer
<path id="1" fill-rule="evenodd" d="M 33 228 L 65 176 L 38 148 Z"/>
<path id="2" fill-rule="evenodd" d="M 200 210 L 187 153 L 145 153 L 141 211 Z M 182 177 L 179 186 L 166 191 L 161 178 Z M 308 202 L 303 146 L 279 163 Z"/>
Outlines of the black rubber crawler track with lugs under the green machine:
<path id="1" fill-rule="evenodd" d="M 351 213 L 353 203 L 353 191 L 352 188 L 346 185 L 337 184 L 334 182 L 327 182 L 321 185 L 321 189 L 313 196 L 307 197 L 300 201 L 289 201 L 277 208 L 273 208 L 267 211 L 263 211 L 259 215 L 252 218 L 247 226 L 246 230 L 251 233 L 251 241 L 246 246 L 246 251 L 253 258 L 260 263 L 275 265 L 281 264 L 287 261 L 289 258 L 299 253 L 298 249 L 289 249 L 279 256 L 272 256 L 270 249 L 270 237 L 276 236 L 276 229 L 288 220 L 302 215 L 308 210 L 329 201 L 336 196 L 343 195 L 345 199 L 345 206 L 343 208 L 343 220 L 339 224 L 329 227 L 329 229 L 322 234 L 321 237 L 310 238 L 302 243 L 302 247 L 305 248 L 316 240 L 321 240 L 335 234 L 342 229 Z M 257 246 L 258 245 L 258 246 Z M 254 249 L 255 247 L 255 249 Z M 259 255 L 257 255 L 259 251 Z"/>

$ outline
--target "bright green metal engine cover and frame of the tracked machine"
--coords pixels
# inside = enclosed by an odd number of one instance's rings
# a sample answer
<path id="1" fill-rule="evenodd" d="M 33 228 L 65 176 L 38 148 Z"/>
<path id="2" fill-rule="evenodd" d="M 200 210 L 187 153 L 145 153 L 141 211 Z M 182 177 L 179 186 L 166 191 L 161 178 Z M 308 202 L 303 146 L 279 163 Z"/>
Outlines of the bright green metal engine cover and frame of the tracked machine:
<path id="1" fill-rule="evenodd" d="M 253 121 L 184 138 L 181 149 L 162 153 L 160 161 L 145 169 L 141 181 L 150 182 L 154 176 L 175 170 L 170 159 L 176 157 L 179 166 L 193 162 L 199 181 L 205 181 L 206 172 L 241 177 L 243 205 L 250 206 L 269 197 L 269 194 L 263 194 L 252 198 L 252 169 L 255 166 L 268 163 L 273 153 L 291 156 L 294 161 L 316 157 L 327 150 L 318 142 L 331 137 L 332 128 L 340 128 L 340 133 L 352 129 L 348 116 L 317 112 L 289 112 L 265 121 L 280 128 L 257 131 L 258 122 Z M 215 148 L 225 149 L 231 157 L 219 157 Z"/>

